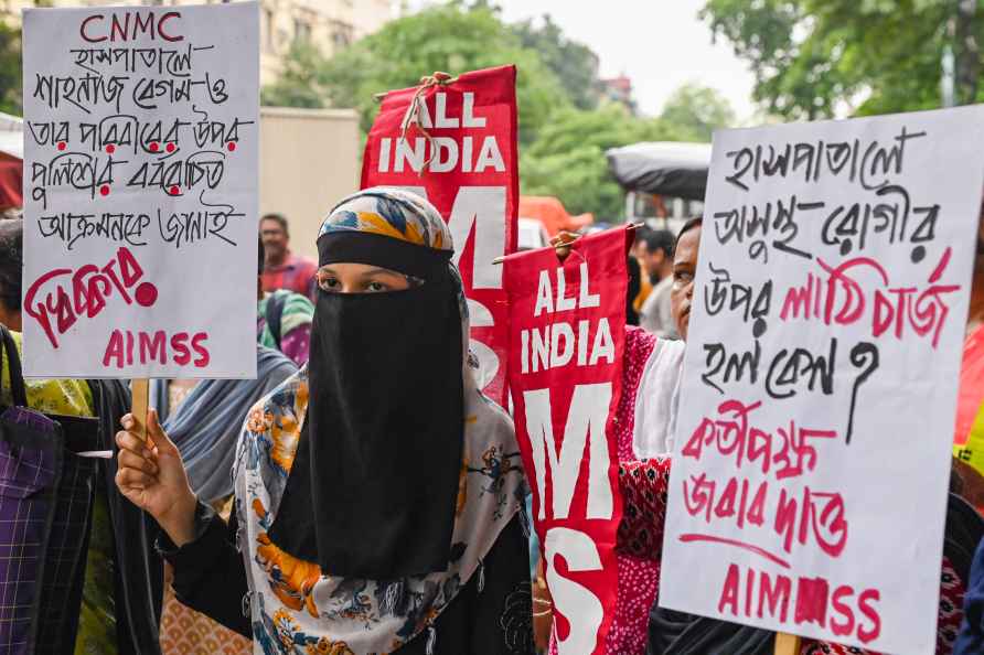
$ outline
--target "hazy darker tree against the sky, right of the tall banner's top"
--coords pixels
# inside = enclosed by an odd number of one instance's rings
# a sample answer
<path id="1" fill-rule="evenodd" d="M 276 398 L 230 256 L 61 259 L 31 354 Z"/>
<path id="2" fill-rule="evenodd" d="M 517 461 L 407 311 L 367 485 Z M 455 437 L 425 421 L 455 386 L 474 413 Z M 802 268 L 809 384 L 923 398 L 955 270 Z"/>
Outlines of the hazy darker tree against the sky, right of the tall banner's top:
<path id="1" fill-rule="evenodd" d="M 598 55 L 590 47 L 564 36 L 548 13 L 543 15 L 543 24 L 538 28 L 533 20 L 525 20 L 514 23 L 512 30 L 520 43 L 539 53 L 575 107 L 593 109 L 598 106 Z"/>

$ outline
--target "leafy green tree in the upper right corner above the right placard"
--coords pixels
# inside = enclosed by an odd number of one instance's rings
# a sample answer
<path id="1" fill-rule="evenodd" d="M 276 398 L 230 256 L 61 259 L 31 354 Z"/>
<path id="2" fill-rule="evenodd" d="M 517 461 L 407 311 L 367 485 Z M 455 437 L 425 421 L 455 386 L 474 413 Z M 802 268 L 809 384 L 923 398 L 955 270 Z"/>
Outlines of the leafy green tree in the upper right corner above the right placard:
<path id="1" fill-rule="evenodd" d="M 859 115 L 938 107 L 946 45 L 959 63 L 959 101 L 982 99 L 984 21 L 966 1 L 976 0 L 708 0 L 703 17 L 751 65 L 757 100 L 813 119 L 842 107 Z"/>

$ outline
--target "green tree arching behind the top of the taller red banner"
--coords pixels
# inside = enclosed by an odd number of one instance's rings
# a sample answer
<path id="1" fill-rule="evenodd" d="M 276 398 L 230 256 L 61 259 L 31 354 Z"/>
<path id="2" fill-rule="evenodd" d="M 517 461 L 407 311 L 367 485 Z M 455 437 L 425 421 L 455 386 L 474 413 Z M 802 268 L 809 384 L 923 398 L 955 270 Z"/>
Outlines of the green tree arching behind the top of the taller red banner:
<path id="1" fill-rule="evenodd" d="M 330 60 L 295 47 L 287 65 L 290 74 L 269 87 L 265 98 L 353 107 L 362 117 L 362 128 L 368 130 L 378 92 L 415 86 L 423 75 L 435 71 L 454 74 L 503 64 L 518 68 L 520 138 L 530 143 L 550 111 L 568 101 L 539 55 L 523 47 L 496 11 L 484 3 L 429 7 L 387 23 Z"/>

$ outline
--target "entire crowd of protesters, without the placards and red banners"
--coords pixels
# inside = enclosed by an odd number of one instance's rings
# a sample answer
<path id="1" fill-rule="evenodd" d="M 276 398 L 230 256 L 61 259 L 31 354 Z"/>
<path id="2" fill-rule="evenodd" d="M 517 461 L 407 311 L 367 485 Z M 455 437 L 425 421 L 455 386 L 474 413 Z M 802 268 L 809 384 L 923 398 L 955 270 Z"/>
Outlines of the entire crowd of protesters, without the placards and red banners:
<path id="1" fill-rule="evenodd" d="M 655 603 L 703 223 L 638 232 L 627 314 L 639 326 L 627 328 L 616 434 L 625 509 L 605 651 L 771 655 L 773 633 Z M 0 221 L 0 408 L 51 417 L 69 452 L 115 445 L 116 457 L 67 459 L 58 481 L 33 481 L 51 493 L 14 503 L 4 492 L 0 522 L 19 507 L 50 517 L 36 528 L 46 555 L 20 577 L 0 563 L 12 594 L 3 620 L 31 640 L 10 652 L 557 652 L 526 481 L 507 454 L 513 425 L 477 388 L 454 244 L 426 201 L 394 189 L 343 198 L 323 219 L 317 261 L 291 253 L 284 216 L 264 216 L 257 379 L 158 380 L 148 441 L 120 382 L 22 377 L 22 233 L 20 219 Z M 958 444 L 984 420 L 982 342 L 984 211 Z M 9 412 L 2 420 L 0 472 L 15 477 L 8 436 L 18 432 Z M 494 500 L 469 474 L 489 452 L 500 458 Z M 67 509 L 52 501 L 66 497 L 76 498 Z M 940 655 L 984 652 L 982 509 L 984 479 L 954 458 Z M 0 534 L 0 552 L 10 544 Z M 28 584 L 40 603 L 7 609 Z M 801 653 L 863 651 L 806 640 Z"/>

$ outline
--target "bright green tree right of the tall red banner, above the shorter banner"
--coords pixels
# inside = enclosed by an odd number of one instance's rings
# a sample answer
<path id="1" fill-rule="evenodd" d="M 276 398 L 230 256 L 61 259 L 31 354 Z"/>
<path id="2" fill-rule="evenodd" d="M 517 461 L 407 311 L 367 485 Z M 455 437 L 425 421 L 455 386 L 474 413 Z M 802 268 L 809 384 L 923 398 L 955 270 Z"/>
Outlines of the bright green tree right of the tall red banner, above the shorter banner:
<path id="1" fill-rule="evenodd" d="M 598 221 L 623 214 L 624 193 L 611 178 L 605 151 L 637 141 L 674 140 L 659 119 L 635 118 L 621 106 L 561 109 L 521 153 L 520 181 L 528 195 L 555 195 L 573 213 Z"/>

